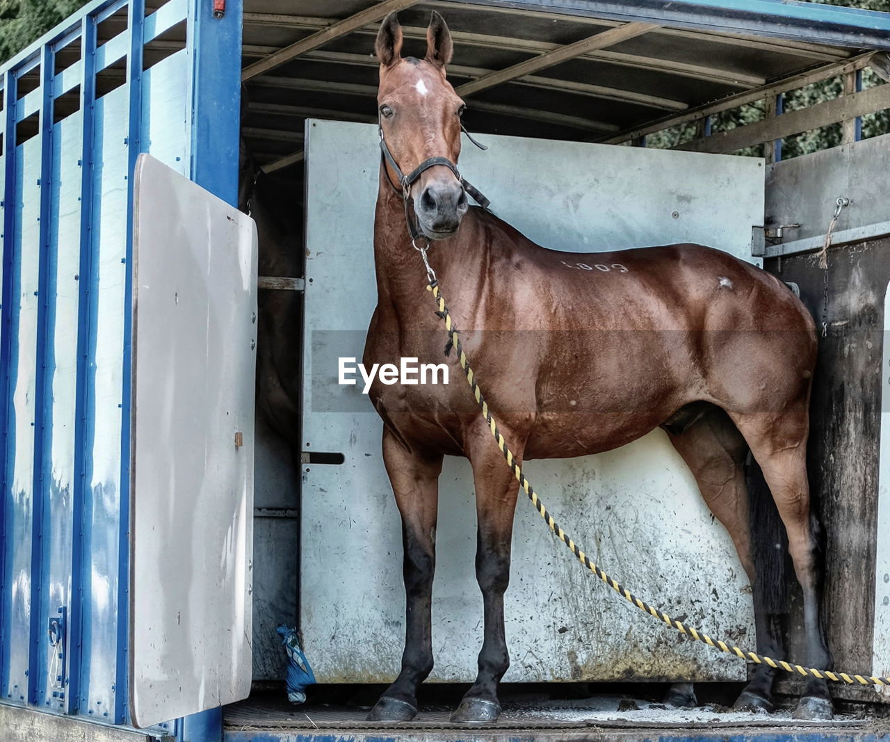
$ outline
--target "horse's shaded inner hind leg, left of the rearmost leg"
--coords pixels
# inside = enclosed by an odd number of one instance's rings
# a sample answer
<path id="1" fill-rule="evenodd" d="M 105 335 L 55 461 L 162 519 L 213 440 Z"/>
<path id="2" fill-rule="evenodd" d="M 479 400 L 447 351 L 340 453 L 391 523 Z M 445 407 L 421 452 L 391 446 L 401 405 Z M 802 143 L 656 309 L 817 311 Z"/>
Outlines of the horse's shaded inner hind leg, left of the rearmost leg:
<path id="1" fill-rule="evenodd" d="M 781 580 L 774 579 L 776 569 L 765 559 L 772 557 L 775 561 L 775 549 L 759 548 L 762 543 L 772 545 L 775 531 L 767 536 L 765 521 L 756 510 L 752 519 L 749 511 L 749 503 L 755 507 L 759 504 L 760 493 L 755 488 L 748 494 L 745 472 L 748 444 L 724 410 L 714 405 L 690 406 L 684 415 L 675 415 L 668 423 L 663 427 L 671 443 L 689 466 L 708 508 L 732 537 L 742 569 L 752 585 L 757 651 L 781 657 L 781 620 L 777 614 L 782 612 L 784 594 Z M 769 497 L 768 491 L 766 496 Z M 752 520 L 758 524 L 754 533 L 750 528 Z M 778 517 L 773 519 L 773 524 L 778 524 L 781 533 Z M 778 600 L 776 594 L 780 596 Z M 769 665 L 757 665 L 754 677 L 742 690 L 735 707 L 772 710 L 774 675 Z M 692 683 L 675 683 L 667 690 L 665 701 L 674 706 L 695 706 Z"/>

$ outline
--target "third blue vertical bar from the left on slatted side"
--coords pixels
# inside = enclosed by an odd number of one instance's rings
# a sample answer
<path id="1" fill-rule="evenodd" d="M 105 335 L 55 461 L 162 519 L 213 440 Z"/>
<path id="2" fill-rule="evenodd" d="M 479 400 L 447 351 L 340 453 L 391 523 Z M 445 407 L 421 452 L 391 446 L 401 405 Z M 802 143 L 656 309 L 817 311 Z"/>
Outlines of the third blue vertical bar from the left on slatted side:
<path id="1" fill-rule="evenodd" d="M 89 486 L 87 471 L 93 440 L 93 421 L 89 419 L 90 347 L 93 344 L 95 298 L 90 289 L 93 280 L 93 110 L 96 102 L 94 75 L 96 52 L 96 21 L 86 15 L 81 21 L 80 36 L 80 110 L 83 120 L 80 180 L 80 283 L 77 302 L 77 402 L 75 403 L 74 447 L 74 533 L 71 538 L 71 610 L 68 646 L 67 690 L 68 713 L 77 714 L 80 708 L 83 678 L 84 601 L 90 598 L 89 575 L 84 571 L 84 531 L 89 528 L 89 513 L 85 512 L 85 490 Z M 87 560 L 88 561 L 88 560 Z"/>

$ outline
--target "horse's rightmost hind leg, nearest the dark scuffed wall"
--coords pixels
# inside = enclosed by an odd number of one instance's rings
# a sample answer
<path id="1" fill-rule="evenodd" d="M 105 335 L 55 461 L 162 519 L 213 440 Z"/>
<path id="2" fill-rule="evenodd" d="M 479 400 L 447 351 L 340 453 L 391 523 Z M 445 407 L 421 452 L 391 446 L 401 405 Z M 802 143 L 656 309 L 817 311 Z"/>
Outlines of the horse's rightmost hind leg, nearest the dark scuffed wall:
<path id="1" fill-rule="evenodd" d="M 766 484 L 788 534 L 789 553 L 804 593 L 805 663 L 819 670 L 834 666 L 821 625 L 822 550 L 818 520 L 810 510 L 806 476 L 809 414 L 805 399 L 781 413 L 733 415 L 763 471 Z M 833 710 L 828 682 L 807 677 L 797 719 L 830 719 Z"/>

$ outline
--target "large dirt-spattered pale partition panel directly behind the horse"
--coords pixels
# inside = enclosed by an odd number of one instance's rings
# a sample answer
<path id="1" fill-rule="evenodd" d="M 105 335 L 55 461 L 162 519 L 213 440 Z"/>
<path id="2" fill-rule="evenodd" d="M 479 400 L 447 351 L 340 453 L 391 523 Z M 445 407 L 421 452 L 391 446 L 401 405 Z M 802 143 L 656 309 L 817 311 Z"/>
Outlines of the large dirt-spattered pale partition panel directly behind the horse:
<path id="1" fill-rule="evenodd" d="M 360 358 L 376 302 L 377 132 L 314 121 L 306 133 L 303 444 L 345 461 L 303 465 L 301 627 L 319 682 L 386 682 L 398 672 L 404 639 L 400 519 L 381 460 L 382 423 L 360 387 L 336 387 L 336 357 Z M 754 262 L 751 228 L 764 217 L 760 159 L 480 138 L 490 149 L 465 143 L 461 172 L 498 216 L 541 245 L 597 252 L 694 241 Z M 663 432 L 525 469 L 555 519 L 614 577 L 687 625 L 754 648 L 747 578 Z M 439 511 L 431 677 L 469 682 L 482 604 L 464 459 L 446 459 Z M 508 682 L 745 677 L 740 660 L 684 640 L 585 574 L 523 498 L 506 634 Z"/>

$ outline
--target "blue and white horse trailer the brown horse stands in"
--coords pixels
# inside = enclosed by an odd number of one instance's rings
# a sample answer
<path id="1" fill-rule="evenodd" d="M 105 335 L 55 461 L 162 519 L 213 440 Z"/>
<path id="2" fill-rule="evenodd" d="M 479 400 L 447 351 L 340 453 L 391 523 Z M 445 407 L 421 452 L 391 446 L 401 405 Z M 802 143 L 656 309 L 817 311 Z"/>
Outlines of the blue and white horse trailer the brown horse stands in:
<path id="1" fill-rule="evenodd" d="M 400 12 L 422 57 L 431 11 L 488 148 L 465 139 L 461 173 L 566 251 L 566 270 L 612 279 L 623 266 L 570 254 L 698 242 L 773 273 L 813 314 L 826 632 L 839 671 L 890 674 L 890 13 L 93 0 L 0 68 L 0 738 L 890 739 L 886 689 L 868 683 L 833 686 L 833 722 L 569 698 L 578 683 L 718 689 L 748 666 L 614 601 L 522 503 L 513 705 L 473 729 L 438 702 L 415 722 L 364 721 L 367 687 L 400 663 L 401 524 L 379 418 L 343 362 L 361 359 L 376 302 L 376 30 Z M 807 153 L 813 132 L 833 146 Z M 527 469 L 597 563 L 757 649 L 732 540 L 664 431 Z M 473 497 L 449 457 L 430 677 L 443 693 L 473 681 L 482 639 Z M 279 625 L 299 630 L 334 701 L 287 703 Z M 789 659 L 804 656 L 797 633 Z M 557 687 L 575 690 L 546 700 Z"/>

